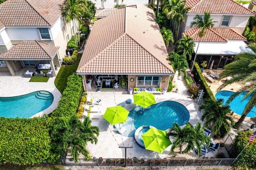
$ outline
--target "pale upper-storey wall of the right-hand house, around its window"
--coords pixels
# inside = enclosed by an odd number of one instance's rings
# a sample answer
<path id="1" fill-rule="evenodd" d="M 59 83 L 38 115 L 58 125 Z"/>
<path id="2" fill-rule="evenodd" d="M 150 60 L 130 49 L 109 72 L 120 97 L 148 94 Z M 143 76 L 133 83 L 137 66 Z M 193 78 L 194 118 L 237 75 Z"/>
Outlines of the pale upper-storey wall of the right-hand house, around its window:
<path id="1" fill-rule="evenodd" d="M 185 31 L 191 29 L 190 28 L 190 23 L 193 20 L 193 18 L 195 17 L 195 14 L 189 14 L 187 16 L 187 19 L 186 19 L 186 27 L 185 27 Z M 229 26 L 226 27 L 226 26 L 221 26 L 221 22 L 222 22 L 222 19 L 223 19 L 223 15 L 211 15 L 213 21 L 215 21 L 215 24 L 214 24 L 214 27 L 220 27 L 220 28 L 231 28 L 231 29 L 234 29 L 236 30 L 238 33 L 243 33 L 245 27 L 246 27 L 246 24 L 250 18 L 250 16 L 231 16 L 231 20 L 229 22 Z"/>

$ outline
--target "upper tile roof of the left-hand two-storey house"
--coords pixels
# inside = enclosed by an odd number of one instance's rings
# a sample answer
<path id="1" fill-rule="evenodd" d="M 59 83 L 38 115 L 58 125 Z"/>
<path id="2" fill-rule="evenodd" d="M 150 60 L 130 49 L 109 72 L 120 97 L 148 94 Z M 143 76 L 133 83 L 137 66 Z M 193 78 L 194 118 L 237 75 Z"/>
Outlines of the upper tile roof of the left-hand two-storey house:
<path id="1" fill-rule="evenodd" d="M 64 0 L 8 0 L 0 4 L 5 26 L 51 26 L 60 17 Z"/>

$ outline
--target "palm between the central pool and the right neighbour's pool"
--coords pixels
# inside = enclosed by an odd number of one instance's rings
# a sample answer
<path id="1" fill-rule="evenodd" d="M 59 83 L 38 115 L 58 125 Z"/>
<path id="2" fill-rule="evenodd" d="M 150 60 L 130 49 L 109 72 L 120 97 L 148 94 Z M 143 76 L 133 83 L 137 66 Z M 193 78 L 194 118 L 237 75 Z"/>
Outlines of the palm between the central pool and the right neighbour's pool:
<path id="1" fill-rule="evenodd" d="M 204 104 L 199 106 L 199 111 L 204 110 L 204 114 L 201 117 L 202 121 L 205 121 L 205 125 L 210 126 L 210 129 L 215 135 L 220 134 L 221 129 L 224 129 L 227 133 L 230 131 L 231 125 L 234 123 L 231 117 L 230 107 L 222 106 L 222 100 L 205 99 Z M 223 132 L 223 131 L 222 131 Z"/>

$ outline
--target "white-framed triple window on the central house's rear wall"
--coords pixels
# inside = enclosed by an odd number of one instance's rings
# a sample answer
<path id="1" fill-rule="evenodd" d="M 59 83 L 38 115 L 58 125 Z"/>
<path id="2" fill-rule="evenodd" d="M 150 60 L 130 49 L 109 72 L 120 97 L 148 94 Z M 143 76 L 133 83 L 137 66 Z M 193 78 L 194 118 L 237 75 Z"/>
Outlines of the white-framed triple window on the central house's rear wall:
<path id="1" fill-rule="evenodd" d="M 159 86 L 159 84 L 160 84 L 159 76 L 137 77 L 137 86 Z"/>

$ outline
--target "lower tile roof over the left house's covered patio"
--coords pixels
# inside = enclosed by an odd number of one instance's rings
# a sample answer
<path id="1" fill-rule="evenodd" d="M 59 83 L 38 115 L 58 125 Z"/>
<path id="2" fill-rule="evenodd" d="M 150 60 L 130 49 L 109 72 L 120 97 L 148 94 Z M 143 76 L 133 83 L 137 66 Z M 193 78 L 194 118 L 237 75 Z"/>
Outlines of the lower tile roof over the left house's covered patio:
<path id="1" fill-rule="evenodd" d="M 37 40 L 24 40 L 15 45 L 7 52 L 0 55 L 0 59 L 15 60 L 51 60 L 57 53 L 59 47 L 48 45 Z"/>

